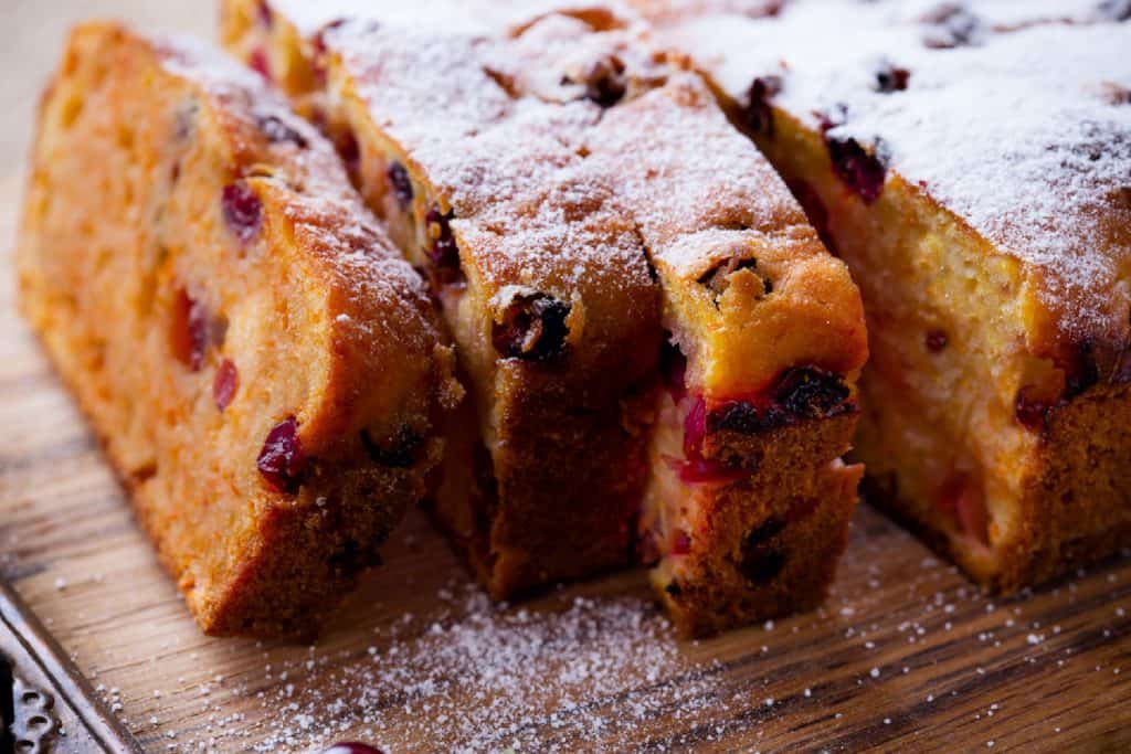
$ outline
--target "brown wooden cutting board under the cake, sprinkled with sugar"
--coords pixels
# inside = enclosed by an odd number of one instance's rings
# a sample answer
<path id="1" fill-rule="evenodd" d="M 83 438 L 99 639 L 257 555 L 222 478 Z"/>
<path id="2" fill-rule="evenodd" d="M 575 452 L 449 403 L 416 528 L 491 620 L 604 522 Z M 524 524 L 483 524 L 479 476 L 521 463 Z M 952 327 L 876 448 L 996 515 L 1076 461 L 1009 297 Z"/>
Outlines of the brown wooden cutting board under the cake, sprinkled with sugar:
<path id="1" fill-rule="evenodd" d="M 414 514 L 313 647 L 202 636 L 15 313 L 0 567 L 149 751 L 1129 751 L 1131 556 L 982 596 L 870 510 L 820 610 L 680 643 L 618 574 L 486 606 Z"/>

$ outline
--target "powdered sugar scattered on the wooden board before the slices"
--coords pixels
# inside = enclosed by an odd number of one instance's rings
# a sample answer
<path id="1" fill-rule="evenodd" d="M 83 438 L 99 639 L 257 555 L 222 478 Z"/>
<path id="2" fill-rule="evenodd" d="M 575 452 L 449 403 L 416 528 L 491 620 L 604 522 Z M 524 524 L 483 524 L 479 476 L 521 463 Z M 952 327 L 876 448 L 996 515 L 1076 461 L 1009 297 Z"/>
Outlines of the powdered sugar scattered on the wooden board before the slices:
<path id="1" fill-rule="evenodd" d="M 711 703 L 707 668 L 681 659 L 666 621 L 636 598 L 507 609 L 467 586 L 441 590 L 441 605 L 439 617 L 380 631 L 340 667 L 331 656 L 307 662 L 299 685 L 264 700 L 287 713 L 256 749 L 308 748 L 347 729 L 391 751 L 573 752 L 598 735 L 627 749 L 638 727 Z M 661 682 L 675 674 L 680 684 Z"/>

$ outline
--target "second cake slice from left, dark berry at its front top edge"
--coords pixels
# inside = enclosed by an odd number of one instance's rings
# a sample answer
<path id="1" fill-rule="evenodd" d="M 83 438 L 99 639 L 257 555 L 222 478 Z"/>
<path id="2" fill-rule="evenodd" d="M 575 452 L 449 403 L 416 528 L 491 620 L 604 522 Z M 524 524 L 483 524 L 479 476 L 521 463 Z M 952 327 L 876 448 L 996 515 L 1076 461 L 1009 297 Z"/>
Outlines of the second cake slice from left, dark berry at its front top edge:
<path id="1" fill-rule="evenodd" d="M 515 89 L 457 5 L 398 25 L 231 0 L 224 38 L 334 135 L 430 279 L 470 393 L 433 510 L 506 599 L 630 562 L 661 306 L 631 216 L 578 148 L 602 106 Z"/>

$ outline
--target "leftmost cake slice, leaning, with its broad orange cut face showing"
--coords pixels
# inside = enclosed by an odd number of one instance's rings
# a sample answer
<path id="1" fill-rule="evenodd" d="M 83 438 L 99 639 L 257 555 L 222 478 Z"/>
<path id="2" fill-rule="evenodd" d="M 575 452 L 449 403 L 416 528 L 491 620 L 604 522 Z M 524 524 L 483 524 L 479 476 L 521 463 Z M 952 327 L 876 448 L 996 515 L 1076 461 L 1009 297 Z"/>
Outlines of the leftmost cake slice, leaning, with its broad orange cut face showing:
<path id="1" fill-rule="evenodd" d="M 219 53 L 78 27 L 16 266 L 201 629 L 311 632 L 423 496 L 460 397 L 333 146 Z"/>

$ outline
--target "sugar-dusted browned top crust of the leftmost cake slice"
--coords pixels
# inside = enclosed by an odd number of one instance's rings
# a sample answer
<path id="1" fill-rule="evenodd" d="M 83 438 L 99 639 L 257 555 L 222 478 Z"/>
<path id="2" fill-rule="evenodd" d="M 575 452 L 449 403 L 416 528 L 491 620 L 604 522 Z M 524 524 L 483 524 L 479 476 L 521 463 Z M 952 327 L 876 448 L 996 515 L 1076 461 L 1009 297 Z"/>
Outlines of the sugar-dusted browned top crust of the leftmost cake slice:
<path id="1" fill-rule="evenodd" d="M 228 180 L 244 181 L 262 202 L 264 222 L 277 224 L 277 232 L 260 236 L 290 242 L 258 250 L 254 242 L 248 253 L 276 254 L 279 265 L 301 270 L 336 312 L 318 323 L 318 333 L 343 357 L 325 364 L 323 388 L 299 411 L 312 452 L 352 442 L 362 428 L 378 437 L 406 423 L 424 430 L 438 399 L 449 407 L 458 401 L 451 354 L 423 280 L 362 206 L 317 130 L 260 77 L 192 41 L 150 46 L 110 25 L 76 35 L 103 37 L 100 43 L 129 64 L 150 59 L 169 77 L 163 86 L 184 88 L 185 107 L 208 124 L 200 138 L 219 154 Z"/>

